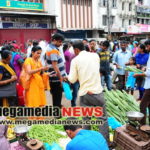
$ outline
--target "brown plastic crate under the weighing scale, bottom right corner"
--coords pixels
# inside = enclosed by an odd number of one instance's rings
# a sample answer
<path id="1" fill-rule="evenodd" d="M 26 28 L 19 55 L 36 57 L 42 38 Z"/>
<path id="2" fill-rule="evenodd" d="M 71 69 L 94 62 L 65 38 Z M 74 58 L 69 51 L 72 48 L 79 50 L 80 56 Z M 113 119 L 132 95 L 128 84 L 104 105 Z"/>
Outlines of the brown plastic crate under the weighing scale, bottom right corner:
<path id="1" fill-rule="evenodd" d="M 116 150 L 150 150 L 150 139 L 147 142 L 139 142 L 124 131 L 125 126 L 119 127 L 115 131 Z"/>

